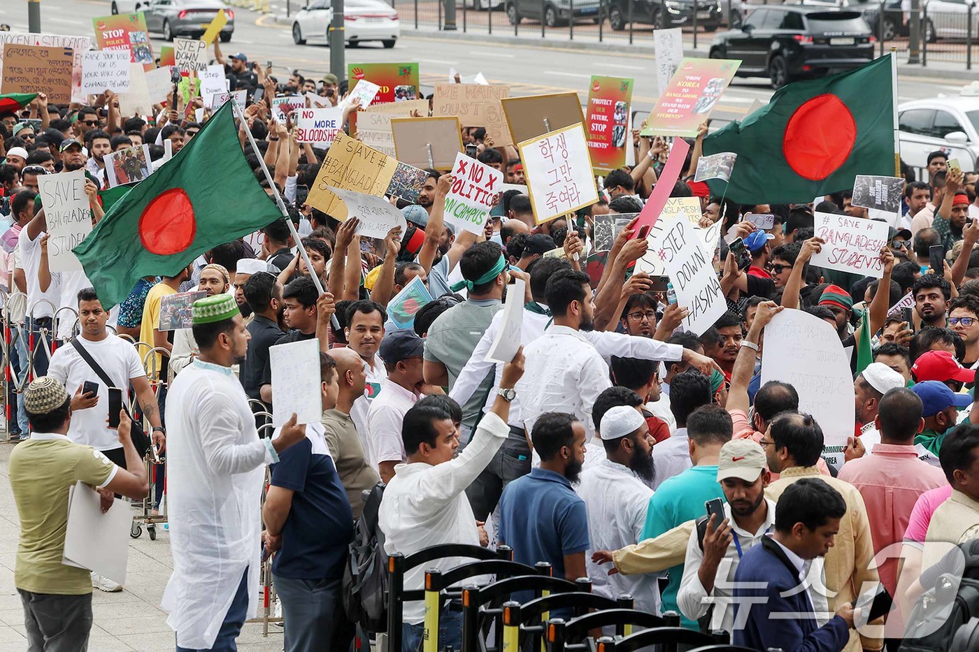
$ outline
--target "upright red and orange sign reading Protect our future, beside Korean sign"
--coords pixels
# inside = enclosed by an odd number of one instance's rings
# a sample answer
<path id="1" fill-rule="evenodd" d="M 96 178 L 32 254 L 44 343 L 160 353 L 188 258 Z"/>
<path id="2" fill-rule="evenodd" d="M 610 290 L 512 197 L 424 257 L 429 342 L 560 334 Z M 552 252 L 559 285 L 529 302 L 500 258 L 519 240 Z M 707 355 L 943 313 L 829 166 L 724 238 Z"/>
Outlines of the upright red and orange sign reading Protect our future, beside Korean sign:
<path id="1" fill-rule="evenodd" d="M 632 85 L 631 79 L 591 75 L 584 123 L 591 166 L 596 173 L 626 164 Z"/>

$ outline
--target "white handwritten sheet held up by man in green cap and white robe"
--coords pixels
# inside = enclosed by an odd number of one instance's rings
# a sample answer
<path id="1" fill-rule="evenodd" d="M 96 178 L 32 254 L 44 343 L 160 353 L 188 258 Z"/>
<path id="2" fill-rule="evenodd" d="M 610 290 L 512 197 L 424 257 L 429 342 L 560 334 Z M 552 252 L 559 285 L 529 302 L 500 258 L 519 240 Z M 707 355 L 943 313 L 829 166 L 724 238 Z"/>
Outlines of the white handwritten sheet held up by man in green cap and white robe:
<path id="1" fill-rule="evenodd" d="M 302 340 L 268 349 L 272 369 L 272 425 L 278 428 L 296 415 L 296 423 L 319 423 L 319 340 Z"/>

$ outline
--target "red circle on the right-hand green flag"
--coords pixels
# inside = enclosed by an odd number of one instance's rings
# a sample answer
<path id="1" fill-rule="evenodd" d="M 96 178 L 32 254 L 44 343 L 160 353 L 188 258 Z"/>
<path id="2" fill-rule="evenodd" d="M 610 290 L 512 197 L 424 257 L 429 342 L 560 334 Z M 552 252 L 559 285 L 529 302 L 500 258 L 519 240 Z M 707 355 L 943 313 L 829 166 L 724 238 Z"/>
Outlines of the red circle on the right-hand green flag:
<path id="1" fill-rule="evenodd" d="M 820 181 L 850 158 L 857 122 L 843 100 L 816 95 L 796 109 L 782 136 L 782 155 L 799 176 Z"/>

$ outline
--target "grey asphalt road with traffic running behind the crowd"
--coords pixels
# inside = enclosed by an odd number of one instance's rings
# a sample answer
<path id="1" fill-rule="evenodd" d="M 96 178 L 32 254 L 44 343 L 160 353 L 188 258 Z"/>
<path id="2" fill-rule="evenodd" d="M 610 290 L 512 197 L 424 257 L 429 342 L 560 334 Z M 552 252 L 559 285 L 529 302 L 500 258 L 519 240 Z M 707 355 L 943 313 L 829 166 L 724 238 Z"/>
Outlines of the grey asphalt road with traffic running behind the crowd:
<path id="1" fill-rule="evenodd" d="M 50 33 L 91 34 L 91 20 L 108 15 L 109 7 L 109 0 L 42 0 L 41 27 Z M 327 46 L 295 45 L 288 24 L 276 23 L 270 15 L 262 16 L 243 9 L 234 11 L 235 34 L 232 41 L 223 46 L 225 54 L 240 51 L 262 64 L 271 61 L 279 75 L 287 70 L 300 70 L 304 75 L 318 78 L 328 71 L 330 52 Z M 505 20 L 501 13 L 496 13 L 493 20 L 497 18 L 500 23 Z M 393 50 L 384 49 L 380 43 L 348 47 L 348 63 L 418 62 L 421 64 L 422 90 L 426 94 L 432 92 L 434 84 L 448 80 L 449 68 L 462 74 L 482 71 L 491 83 L 509 84 L 511 95 L 515 96 L 572 91 L 578 92 L 582 101 L 592 74 L 632 77 L 637 80 L 632 97 L 633 109 L 648 112 L 656 102 L 655 58 L 652 54 L 544 48 L 533 41 L 519 45 L 500 44 L 493 42 L 493 36 L 462 33 L 456 38 L 436 38 L 426 36 L 424 32 L 413 32 L 407 19 L 408 12 L 402 12 L 403 35 Z M 17 31 L 26 30 L 26 3 L 3 2 L 0 23 L 9 23 Z M 159 52 L 164 42 L 157 36 L 152 41 Z M 941 73 L 936 71 L 935 78 L 902 77 L 899 99 L 954 94 L 964 83 L 940 76 Z M 713 116 L 720 120 L 737 119 L 744 116 L 756 100 L 768 102 L 771 93 L 765 79 L 736 78 Z"/>

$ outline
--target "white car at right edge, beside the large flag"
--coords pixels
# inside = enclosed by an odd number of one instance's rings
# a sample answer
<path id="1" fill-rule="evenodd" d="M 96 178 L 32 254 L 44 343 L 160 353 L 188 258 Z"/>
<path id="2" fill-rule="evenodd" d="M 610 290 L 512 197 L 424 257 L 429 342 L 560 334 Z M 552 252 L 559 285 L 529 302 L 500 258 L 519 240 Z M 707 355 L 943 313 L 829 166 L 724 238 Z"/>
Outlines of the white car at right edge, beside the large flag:
<path id="1" fill-rule="evenodd" d="M 979 169 L 979 86 L 959 95 L 912 100 L 898 105 L 901 159 L 923 168 L 928 154 L 941 150 L 965 171 Z"/>

